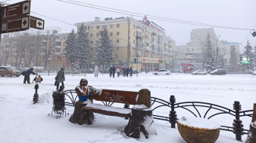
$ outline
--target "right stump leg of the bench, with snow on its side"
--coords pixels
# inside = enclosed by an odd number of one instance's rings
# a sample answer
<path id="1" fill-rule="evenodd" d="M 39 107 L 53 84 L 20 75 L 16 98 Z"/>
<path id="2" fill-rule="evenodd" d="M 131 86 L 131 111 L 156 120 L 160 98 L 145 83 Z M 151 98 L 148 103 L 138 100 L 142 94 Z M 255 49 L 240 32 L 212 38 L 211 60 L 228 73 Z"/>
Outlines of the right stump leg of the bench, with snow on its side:
<path id="1" fill-rule="evenodd" d="M 145 105 L 135 105 L 132 108 L 132 116 L 124 132 L 132 138 L 140 138 L 140 132 L 148 138 L 148 135 L 156 135 L 152 110 Z"/>

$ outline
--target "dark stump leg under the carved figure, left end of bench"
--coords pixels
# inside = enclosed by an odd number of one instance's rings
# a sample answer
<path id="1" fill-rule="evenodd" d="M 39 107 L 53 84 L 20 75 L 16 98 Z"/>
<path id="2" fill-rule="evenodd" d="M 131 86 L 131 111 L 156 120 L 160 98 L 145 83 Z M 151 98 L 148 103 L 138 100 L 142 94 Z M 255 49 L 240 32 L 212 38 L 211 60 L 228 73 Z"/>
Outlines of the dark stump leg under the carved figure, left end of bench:
<path id="1" fill-rule="evenodd" d="M 94 114 L 92 111 L 81 111 L 80 108 L 84 107 L 86 103 L 76 102 L 75 110 L 73 111 L 73 115 L 70 117 L 71 123 L 77 123 L 83 125 L 86 123 L 87 125 L 91 125 L 94 121 Z"/>

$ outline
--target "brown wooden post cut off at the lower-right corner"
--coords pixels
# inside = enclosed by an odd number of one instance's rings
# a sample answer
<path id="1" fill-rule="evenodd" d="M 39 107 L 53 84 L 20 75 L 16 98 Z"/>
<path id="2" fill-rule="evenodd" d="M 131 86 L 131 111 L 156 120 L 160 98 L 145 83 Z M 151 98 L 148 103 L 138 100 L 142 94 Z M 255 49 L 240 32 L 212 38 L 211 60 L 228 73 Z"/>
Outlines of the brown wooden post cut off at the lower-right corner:
<path id="1" fill-rule="evenodd" d="M 250 123 L 250 132 L 245 143 L 256 143 L 256 103 L 254 103 L 253 115 Z"/>

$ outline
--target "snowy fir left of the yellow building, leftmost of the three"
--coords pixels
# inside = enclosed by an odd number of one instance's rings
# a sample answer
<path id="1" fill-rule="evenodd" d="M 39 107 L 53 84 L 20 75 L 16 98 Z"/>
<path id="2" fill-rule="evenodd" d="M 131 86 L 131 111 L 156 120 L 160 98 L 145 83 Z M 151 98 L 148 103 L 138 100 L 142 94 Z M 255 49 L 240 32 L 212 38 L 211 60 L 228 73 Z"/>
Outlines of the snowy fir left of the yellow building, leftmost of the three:
<path id="1" fill-rule="evenodd" d="M 70 32 L 70 34 L 67 36 L 66 44 L 66 53 L 65 56 L 70 60 L 71 64 L 76 63 L 77 60 L 77 44 L 76 44 L 76 34 L 74 30 Z"/>

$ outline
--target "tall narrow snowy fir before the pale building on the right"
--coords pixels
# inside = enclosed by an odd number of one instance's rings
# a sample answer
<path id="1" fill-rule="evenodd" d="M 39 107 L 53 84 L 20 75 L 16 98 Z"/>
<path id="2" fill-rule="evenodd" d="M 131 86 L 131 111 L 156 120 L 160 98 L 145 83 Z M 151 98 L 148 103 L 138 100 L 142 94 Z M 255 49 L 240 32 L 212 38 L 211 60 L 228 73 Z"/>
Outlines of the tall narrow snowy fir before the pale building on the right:
<path id="1" fill-rule="evenodd" d="M 209 33 L 205 40 L 203 67 L 207 71 L 214 71 L 216 69 L 214 52 L 212 49 L 212 44 L 211 44 L 211 39 L 210 39 Z"/>

